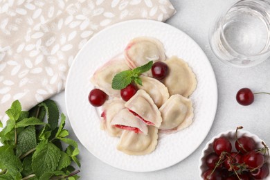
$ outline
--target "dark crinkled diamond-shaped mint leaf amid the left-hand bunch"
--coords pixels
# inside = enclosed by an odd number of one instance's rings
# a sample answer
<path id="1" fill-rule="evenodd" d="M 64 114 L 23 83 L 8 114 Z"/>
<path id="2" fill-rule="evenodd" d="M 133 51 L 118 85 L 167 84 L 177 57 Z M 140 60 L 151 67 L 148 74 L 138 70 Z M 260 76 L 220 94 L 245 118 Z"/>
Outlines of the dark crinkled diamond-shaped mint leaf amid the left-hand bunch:
<path id="1" fill-rule="evenodd" d="M 21 133 L 18 134 L 17 148 L 16 148 L 17 156 L 21 156 L 21 154 L 24 154 L 29 150 L 32 150 L 36 146 L 37 140 L 35 136 L 34 126 L 26 127 L 26 129 L 24 129 Z"/>

